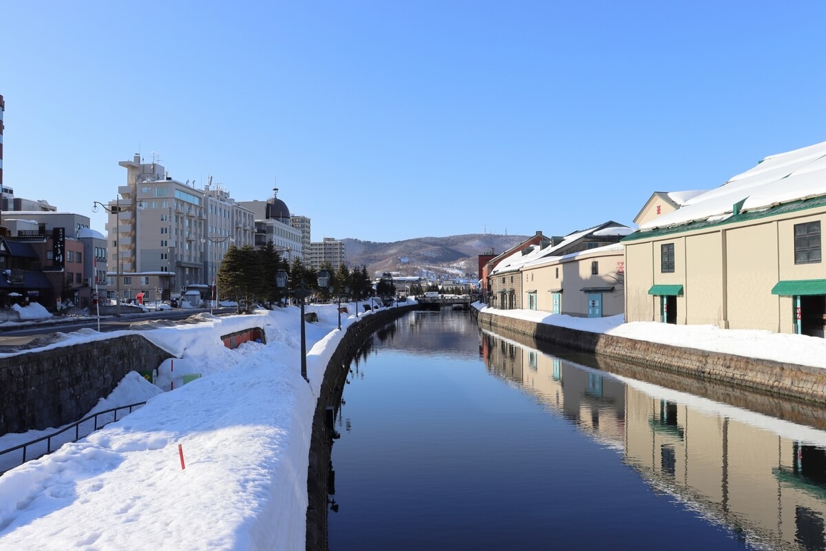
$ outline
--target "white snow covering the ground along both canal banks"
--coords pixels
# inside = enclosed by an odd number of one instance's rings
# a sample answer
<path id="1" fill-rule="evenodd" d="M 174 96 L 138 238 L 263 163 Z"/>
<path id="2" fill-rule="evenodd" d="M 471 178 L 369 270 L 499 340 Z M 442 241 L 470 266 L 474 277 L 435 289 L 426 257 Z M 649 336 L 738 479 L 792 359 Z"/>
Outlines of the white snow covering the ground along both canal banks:
<path id="1" fill-rule="evenodd" d="M 319 316 L 307 324 L 309 384 L 299 373 L 297 307 L 254 316 L 204 313 L 195 325 L 142 330 L 179 359 L 159 367 L 157 386 L 130 373 L 94 411 L 148 400 L 140 410 L 0 477 L 0 549 L 304 549 L 317 393 L 344 330 L 356 322 L 345 315 L 339 331 L 335 305 L 308 310 Z M 811 337 L 623 324 L 621 316 L 495 313 L 826 367 L 826 341 Z M 221 335 L 254 325 L 263 327 L 267 344 L 221 344 Z M 116 335 L 83 330 L 50 346 Z M 182 384 L 184 374 L 195 373 L 203 377 Z M 39 435 L 2 436 L 0 449 Z"/>

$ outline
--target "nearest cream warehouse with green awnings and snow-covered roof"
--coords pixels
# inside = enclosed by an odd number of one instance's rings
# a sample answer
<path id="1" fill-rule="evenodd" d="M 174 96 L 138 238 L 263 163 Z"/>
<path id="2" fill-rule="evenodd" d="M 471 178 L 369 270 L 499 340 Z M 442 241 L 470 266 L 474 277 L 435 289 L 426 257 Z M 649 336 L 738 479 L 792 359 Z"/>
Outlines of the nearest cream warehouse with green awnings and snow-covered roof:
<path id="1" fill-rule="evenodd" d="M 623 240 L 626 321 L 824 336 L 826 142 L 756 167 Z"/>

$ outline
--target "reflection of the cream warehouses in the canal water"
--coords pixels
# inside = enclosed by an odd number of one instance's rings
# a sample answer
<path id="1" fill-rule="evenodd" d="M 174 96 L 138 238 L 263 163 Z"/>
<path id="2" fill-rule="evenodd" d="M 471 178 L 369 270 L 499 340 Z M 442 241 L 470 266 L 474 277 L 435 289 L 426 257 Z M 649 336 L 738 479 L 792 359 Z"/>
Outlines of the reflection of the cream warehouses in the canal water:
<path id="1" fill-rule="evenodd" d="M 743 539 L 826 550 L 823 430 L 586 367 L 571 359 L 584 354 L 561 359 L 487 331 L 480 331 L 479 354 L 492 375 L 519 383 L 617 449 L 658 492 Z"/>

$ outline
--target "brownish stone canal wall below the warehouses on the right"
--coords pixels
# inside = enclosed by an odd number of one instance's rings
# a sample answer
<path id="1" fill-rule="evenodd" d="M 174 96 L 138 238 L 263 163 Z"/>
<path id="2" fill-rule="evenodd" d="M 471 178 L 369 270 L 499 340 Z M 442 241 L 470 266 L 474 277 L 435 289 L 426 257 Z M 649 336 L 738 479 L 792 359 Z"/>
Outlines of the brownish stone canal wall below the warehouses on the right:
<path id="1" fill-rule="evenodd" d="M 479 325 L 489 329 L 504 328 L 569 349 L 780 397 L 826 402 L 826 369 L 625 339 L 473 311 L 477 313 Z"/>

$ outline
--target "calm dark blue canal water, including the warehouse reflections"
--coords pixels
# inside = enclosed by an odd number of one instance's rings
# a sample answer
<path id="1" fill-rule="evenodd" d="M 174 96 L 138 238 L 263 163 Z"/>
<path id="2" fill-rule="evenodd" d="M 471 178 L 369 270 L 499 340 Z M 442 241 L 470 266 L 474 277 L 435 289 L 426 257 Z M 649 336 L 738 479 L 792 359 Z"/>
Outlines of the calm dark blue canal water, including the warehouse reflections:
<path id="1" fill-rule="evenodd" d="M 467 311 L 406 314 L 350 370 L 335 551 L 826 549 L 824 411 L 540 351 Z"/>

